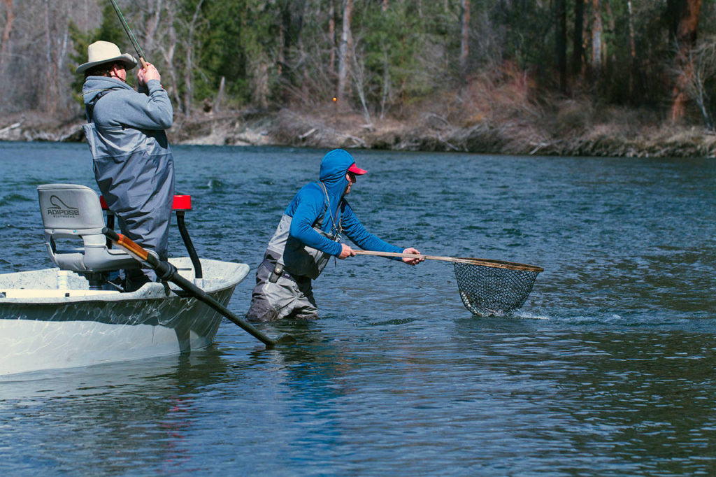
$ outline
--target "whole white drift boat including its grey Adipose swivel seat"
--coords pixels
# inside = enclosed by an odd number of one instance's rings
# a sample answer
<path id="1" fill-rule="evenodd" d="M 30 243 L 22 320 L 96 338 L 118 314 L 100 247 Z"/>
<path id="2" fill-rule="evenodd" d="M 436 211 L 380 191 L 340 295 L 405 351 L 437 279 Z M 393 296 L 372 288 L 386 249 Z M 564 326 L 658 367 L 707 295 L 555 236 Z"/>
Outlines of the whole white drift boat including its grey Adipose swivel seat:
<path id="1" fill-rule="evenodd" d="M 222 315 L 174 284 L 111 289 L 109 274 L 138 262 L 107 246 L 100 200 L 92 189 L 64 184 L 38 189 L 47 247 L 58 268 L 0 275 L 0 375 L 171 355 L 211 344 Z M 183 217 L 178 222 L 183 228 Z M 57 241 L 71 236 L 83 246 L 59 251 Z M 190 257 L 170 262 L 226 306 L 248 265 L 199 260 L 190 240 L 185 243 Z"/>

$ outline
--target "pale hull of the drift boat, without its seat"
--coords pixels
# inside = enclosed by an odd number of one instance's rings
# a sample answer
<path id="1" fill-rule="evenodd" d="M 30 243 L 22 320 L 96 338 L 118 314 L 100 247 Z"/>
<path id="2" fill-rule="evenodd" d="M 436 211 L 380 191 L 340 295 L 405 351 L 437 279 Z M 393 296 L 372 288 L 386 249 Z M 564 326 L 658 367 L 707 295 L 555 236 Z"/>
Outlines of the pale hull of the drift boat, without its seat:
<path id="1" fill-rule="evenodd" d="M 188 259 L 172 261 L 194 279 Z M 248 273 L 246 264 L 221 261 L 202 260 L 202 268 L 202 288 L 224 306 Z M 93 293 L 81 276 L 64 286 L 57 272 L 0 275 L 0 375 L 189 352 L 211 344 L 221 323 L 211 307 L 165 284 Z"/>

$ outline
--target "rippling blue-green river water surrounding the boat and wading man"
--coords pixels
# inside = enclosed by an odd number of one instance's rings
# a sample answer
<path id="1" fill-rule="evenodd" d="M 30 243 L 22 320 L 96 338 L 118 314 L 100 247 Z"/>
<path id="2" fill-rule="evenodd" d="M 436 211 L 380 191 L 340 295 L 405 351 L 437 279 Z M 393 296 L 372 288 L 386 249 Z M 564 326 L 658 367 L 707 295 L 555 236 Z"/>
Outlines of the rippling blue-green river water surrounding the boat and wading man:
<path id="1" fill-rule="evenodd" d="M 326 151 L 175 147 L 199 254 L 251 265 Z M 716 470 L 716 162 L 356 151 L 364 226 L 425 254 L 542 266 L 508 317 L 453 267 L 332 261 L 321 319 L 223 322 L 190 355 L 0 381 L 12 475 L 697 475 Z M 0 143 L 0 273 L 50 265 L 36 187 L 86 145 Z M 174 255 L 185 255 L 177 232 Z"/>

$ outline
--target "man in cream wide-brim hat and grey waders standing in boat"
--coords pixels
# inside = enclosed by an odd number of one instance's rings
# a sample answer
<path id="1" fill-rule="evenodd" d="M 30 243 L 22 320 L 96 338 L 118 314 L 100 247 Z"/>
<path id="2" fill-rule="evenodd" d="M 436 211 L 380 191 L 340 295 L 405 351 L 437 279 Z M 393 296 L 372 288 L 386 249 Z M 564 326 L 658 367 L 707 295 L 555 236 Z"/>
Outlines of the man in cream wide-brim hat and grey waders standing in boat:
<path id="1" fill-rule="evenodd" d="M 127 85 L 127 69 L 135 66 L 137 60 L 114 43 L 87 47 L 87 62 L 77 67 L 84 73 L 84 133 L 97 186 L 122 233 L 166 259 L 174 160 L 165 129 L 172 125 L 173 108 L 153 64 L 137 70 L 137 91 Z M 127 291 L 156 279 L 148 269 L 125 273 Z"/>

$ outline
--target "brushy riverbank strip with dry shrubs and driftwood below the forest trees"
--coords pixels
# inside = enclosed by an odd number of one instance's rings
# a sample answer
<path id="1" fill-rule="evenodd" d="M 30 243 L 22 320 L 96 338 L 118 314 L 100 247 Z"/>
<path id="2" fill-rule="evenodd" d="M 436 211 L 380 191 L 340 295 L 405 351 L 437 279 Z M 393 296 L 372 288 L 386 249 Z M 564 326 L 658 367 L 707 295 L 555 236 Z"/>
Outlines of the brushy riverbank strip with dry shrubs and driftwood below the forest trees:
<path id="1" fill-rule="evenodd" d="M 282 109 L 177 115 L 173 144 L 284 145 L 304 148 L 363 148 L 509 155 L 611 157 L 716 157 L 716 134 L 702 127 L 659 124 L 649 112 L 589 112 L 577 102 L 552 111 L 530 108 L 494 114 L 454 114 L 424 108 L 410 119 L 373 119 L 339 113 L 334 105 L 310 112 Z M 599 120 L 599 117 L 606 120 Z M 82 117 L 59 122 L 26 112 L 0 120 L 0 140 L 84 140 Z"/>

